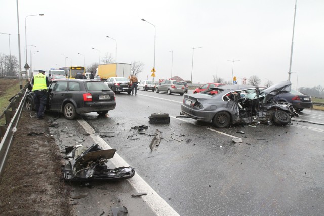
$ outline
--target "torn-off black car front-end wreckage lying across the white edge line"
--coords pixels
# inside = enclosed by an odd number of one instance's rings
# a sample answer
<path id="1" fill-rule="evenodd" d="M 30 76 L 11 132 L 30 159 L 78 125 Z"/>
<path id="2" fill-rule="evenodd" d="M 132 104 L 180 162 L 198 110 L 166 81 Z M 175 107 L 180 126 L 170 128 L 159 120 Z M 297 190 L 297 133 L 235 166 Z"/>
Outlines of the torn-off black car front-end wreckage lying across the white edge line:
<path id="1" fill-rule="evenodd" d="M 98 144 L 85 148 L 75 147 L 68 155 L 69 161 L 62 166 L 64 180 L 91 181 L 91 180 L 121 180 L 135 175 L 132 167 L 108 169 L 106 162 L 113 158 L 116 149 L 103 150 Z"/>

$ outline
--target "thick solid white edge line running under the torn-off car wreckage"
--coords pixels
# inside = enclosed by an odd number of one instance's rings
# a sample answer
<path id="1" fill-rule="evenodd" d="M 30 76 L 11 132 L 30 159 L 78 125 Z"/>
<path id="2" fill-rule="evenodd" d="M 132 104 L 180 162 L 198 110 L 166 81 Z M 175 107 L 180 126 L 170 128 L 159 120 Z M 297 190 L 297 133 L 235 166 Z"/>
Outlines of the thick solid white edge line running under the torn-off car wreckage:
<path id="1" fill-rule="evenodd" d="M 100 136 L 95 135 L 94 129 L 84 120 L 77 120 L 79 124 L 89 133 L 90 137 L 95 143 L 100 145 L 103 149 L 112 149 L 108 143 L 106 143 Z M 116 166 L 130 166 L 127 162 L 115 153 L 114 157 L 110 161 Z M 156 215 L 179 215 L 162 197 L 160 197 L 151 186 L 149 186 L 140 175 L 135 172 L 135 175 L 127 179 L 129 183 L 137 192 L 145 192 L 146 196 L 141 198 L 148 204 L 148 206 L 155 212 Z"/>

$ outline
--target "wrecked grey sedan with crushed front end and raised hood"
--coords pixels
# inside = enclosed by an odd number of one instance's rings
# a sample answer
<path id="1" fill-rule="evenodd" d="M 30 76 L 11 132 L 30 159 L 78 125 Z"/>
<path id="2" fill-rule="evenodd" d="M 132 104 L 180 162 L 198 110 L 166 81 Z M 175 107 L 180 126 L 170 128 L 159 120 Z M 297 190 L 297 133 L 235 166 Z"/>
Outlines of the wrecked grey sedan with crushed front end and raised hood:
<path id="1" fill-rule="evenodd" d="M 212 91 L 217 91 L 218 94 L 211 95 Z M 279 125 L 286 125 L 290 123 L 291 117 L 298 114 L 292 104 L 280 104 L 271 99 L 277 94 L 290 91 L 290 81 L 272 85 L 262 92 L 258 87 L 251 85 L 219 85 L 200 94 L 184 95 L 181 116 L 177 117 L 212 121 L 218 128 L 234 123 L 272 121 Z"/>

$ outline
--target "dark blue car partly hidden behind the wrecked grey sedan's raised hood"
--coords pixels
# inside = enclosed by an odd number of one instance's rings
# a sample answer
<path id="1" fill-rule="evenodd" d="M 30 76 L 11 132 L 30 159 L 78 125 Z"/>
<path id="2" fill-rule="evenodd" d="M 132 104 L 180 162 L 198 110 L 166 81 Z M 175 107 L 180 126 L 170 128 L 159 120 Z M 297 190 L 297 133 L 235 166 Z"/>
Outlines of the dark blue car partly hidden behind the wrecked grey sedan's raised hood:
<path id="1" fill-rule="evenodd" d="M 292 103 L 295 110 L 298 112 L 303 111 L 305 108 L 311 108 L 313 106 L 311 96 L 304 95 L 296 90 L 282 93 L 273 97 L 274 101 L 284 102 L 284 103 Z"/>

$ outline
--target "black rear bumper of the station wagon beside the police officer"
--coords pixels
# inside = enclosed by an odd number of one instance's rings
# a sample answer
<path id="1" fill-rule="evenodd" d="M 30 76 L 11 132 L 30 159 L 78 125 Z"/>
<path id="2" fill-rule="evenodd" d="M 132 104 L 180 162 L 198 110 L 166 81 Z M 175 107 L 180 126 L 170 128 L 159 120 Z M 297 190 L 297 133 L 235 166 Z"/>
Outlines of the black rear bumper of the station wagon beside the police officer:
<path id="1" fill-rule="evenodd" d="M 78 114 L 89 113 L 89 112 L 99 112 L 108 111 L 116 108 L 116 101 L 108 102 L 85 102 L 83 107 L 77 108 L 76 112 Z"/>

